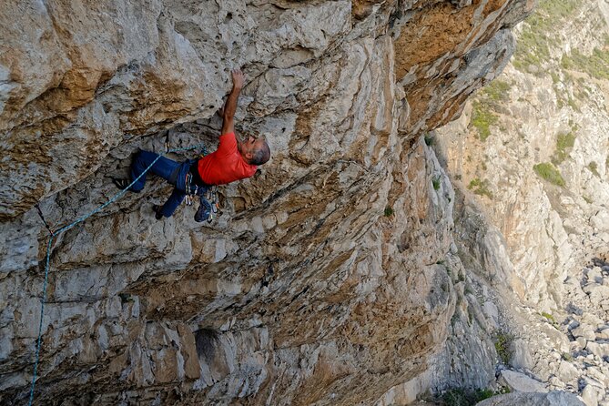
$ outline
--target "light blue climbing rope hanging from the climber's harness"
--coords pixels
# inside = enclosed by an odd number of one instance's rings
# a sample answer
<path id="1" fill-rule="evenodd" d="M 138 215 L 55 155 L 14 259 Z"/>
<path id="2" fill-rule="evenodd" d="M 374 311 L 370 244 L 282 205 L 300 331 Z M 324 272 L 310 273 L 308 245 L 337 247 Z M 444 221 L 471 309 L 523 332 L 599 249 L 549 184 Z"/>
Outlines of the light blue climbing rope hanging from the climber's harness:
<path id="1" fill-rule="evenodd" d="M 155 160 L 153 160 L 152 163 L 150 165 L 148 165 L 147 168 L 144 169 L 144 171 L 141 174 L 139 174 L 139 176 L 137 178 L 133 179 L 131 181 L 131 183 L 129 183 L 129 186 L 127 186 L 127 188 L 124 188 L 123 190 L 118 192 L 115 196 L 113 196 L 112 198 L 109 198 L 108 201 L 106 203 L 104 203 L 103 205 L 99 206 L 98 208 L 95 208 L 91 212 L 87 213 L 85 216 L 77 218 L 75 221 L 68 224 L 67 226 L 58 228 L 55 231 L 53 231 L 51 228 L 47 227 L 51 237 L 48 239 L 48 244 L 46 246 L 45 283 L 43 284 L 43 288 L 42 288 L 43 293 L 42 293 L 42 300 L 41 300 L 42 303 L 40 306 L 40 324 L 38 326 L 38 340 L 37 340 L 37 344 L 36 344 L 36 361 L 34 362 L 34 376 L 32 377 L 32 386 L 30 388 L 30 400 L 28 403 L 29 406 L 32 406 L 32 401 L 34 401 L 34 389 L 36 387 L 36 372 L 38 370 L 38 361 L 40 360 L 40 347 L 42 344 L 42 324 L 43 324 L 43 318 L 45 316 L 46 284 L 48 281 L 48 271 L 49 271 L 50 262 L 51 262 L 51 249 L 52 249 L 53 239 L 55 239 L 59 234 L 66 232 L 68 229 L 75 227 L 76 224 L 82 223 L 87 218 L 90 218 L 91 216 L 94 216 L 96 213 L 100 212 L 104 208 L 107 208 L 107 206 L 111 205 L 112 203 L 117 201 L 119 198 L 122 198 L 123 195 L 125 195 L 127 193 L 129 188 L 131 188 L 133 185 L 135 185 L 135 183 L 140 178 L 142 178 L 144 175 L 146 175 L 147 171 L 150 170 L 150 168 L 153 167 L 157 163 L 157 160 L 160 159 L 161 157 L 164 157 L 165 155 L 167 155 L 169 153 L 173 153 L 173 152 L 187 151 L 189 149 L 198 149 L 198 148 L 201 148 L 203 150 L 203 155 L 207 155 L 205 144 L 198 144 L 196 146 L 191 146 L 191 147 L 167 149 L 165 154 L 159 154 L 158 157 L 156 157 Z M 44 220 L 44 218 L 43 218 L 43 220 Z M 46 224 L 46 221 L 45 221 L 45 224 Z"/>

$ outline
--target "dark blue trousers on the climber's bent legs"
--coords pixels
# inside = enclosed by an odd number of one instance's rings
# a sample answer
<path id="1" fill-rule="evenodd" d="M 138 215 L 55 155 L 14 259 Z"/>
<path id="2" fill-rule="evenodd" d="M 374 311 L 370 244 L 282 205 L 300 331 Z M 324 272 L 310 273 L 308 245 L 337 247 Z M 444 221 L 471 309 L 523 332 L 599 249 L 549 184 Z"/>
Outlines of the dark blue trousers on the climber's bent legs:
<path id="1" fill-rule="evenodd" d="M 144 172 L 157 157 L 158 154 L 155 154 L 154 152 L 139 151 L 131 163 L 131 180 L 137 178 Z M 176 208 L 178 208 L 180 203 L 182 203 L 182 200 L 186 197 L 186 175 L 193 162 L 194 161 L 186 161 L 180 163 L 167 157 L 159 157 L 157 162 L 148 170 L 148 172 L 152 172 L 153 174 L 164 178 L 175 187 L 173 192 L 171 192 L 171 196 L 167 198 L 163 208 L 161 208 L 161 214 L 163 214 L 163 216 L 171 217 L 176 211 Z M 133 184 L 131 187 L 132 190 L 140 191 L 144 188 L 147 173 Z M 176 173 L 178 176 L 176 176 Z"/>

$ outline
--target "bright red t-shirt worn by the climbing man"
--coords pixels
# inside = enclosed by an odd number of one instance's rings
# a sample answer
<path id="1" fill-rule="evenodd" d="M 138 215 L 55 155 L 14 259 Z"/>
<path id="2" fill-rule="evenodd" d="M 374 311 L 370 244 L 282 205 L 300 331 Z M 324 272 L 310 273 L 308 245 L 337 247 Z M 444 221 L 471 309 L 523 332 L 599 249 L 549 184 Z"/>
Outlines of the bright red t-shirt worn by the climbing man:
<path id="1" fill-rule="evenodd" d="M 235 133 L 221 135 L 218 149 L 198 160 L 198 175 L 208 185 L 224 185 L 249 178 L 257 168 L 249 165 L 239 154 Z"/>

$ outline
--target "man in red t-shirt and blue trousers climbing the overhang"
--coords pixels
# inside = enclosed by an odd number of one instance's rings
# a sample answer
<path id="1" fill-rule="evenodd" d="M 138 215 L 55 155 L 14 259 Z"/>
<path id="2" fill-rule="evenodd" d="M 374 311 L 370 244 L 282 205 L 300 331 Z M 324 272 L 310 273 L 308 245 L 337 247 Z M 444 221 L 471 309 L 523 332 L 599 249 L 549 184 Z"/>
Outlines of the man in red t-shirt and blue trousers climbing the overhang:
<path id="1" fill-rule="evenodd" d="M 175 188 L 167 202 L 162 206 L 153 206 L 155 217 L 171 217 L 179 204 L 188 195 L 197 194 L 201 204 L 195 214 L 200 222 L 208 218 L 211 205 L 204 198 L 210 186 L 224 185 L 235 180 L 249 178 L 256 173 L 257 166 L 266 163 L 270 158 L 270 149 L 263 137 L 248 136 L 245 140 L 235 137 L 234 118 L 237 110 L 239 93 L 245 82 L 240 69 L 231 72 L 233 87 L 221 110 L 222 131 L 218 149 L 198 160 L 178 163 L 167 157 L 158 158 L 150 168 L 155 175 L 164 178 Z M 139 151 L 131 164 L 131 179 L 137 178 L 158 157 L 154 152 Z M 112 179 L 117 188 L 125 189 L 131 183 L 127 179 Z M 130 191 L 140 192 L 144 188 L 146 174 L 133 184 Z M 187 193 L 188 192 L 188 193 Z"/>

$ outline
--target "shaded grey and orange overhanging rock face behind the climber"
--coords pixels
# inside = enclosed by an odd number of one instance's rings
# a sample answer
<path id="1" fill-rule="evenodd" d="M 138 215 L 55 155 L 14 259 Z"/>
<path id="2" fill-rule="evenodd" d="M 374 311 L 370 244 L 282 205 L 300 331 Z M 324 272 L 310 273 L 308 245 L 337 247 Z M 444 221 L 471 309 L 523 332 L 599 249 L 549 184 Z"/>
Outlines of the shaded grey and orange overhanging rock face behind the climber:
<path id="1" fill-rule="evenodd" d="M 273 157 L 208 226 L 150 179 L 56 239 L 36 399 L 369 404 L 426 370 L 455 306 L 452 187 L 417 135 L 513 51 L 523 2 L 13 2 L 0 10 L 0 401 L 31 380 L 47 233 L 137 147 L 200 140 L 229 68 Z M 178 157 L 184 158 L 184 157 Z M 362 383 L 364 383 L 362 385 Z"/>

